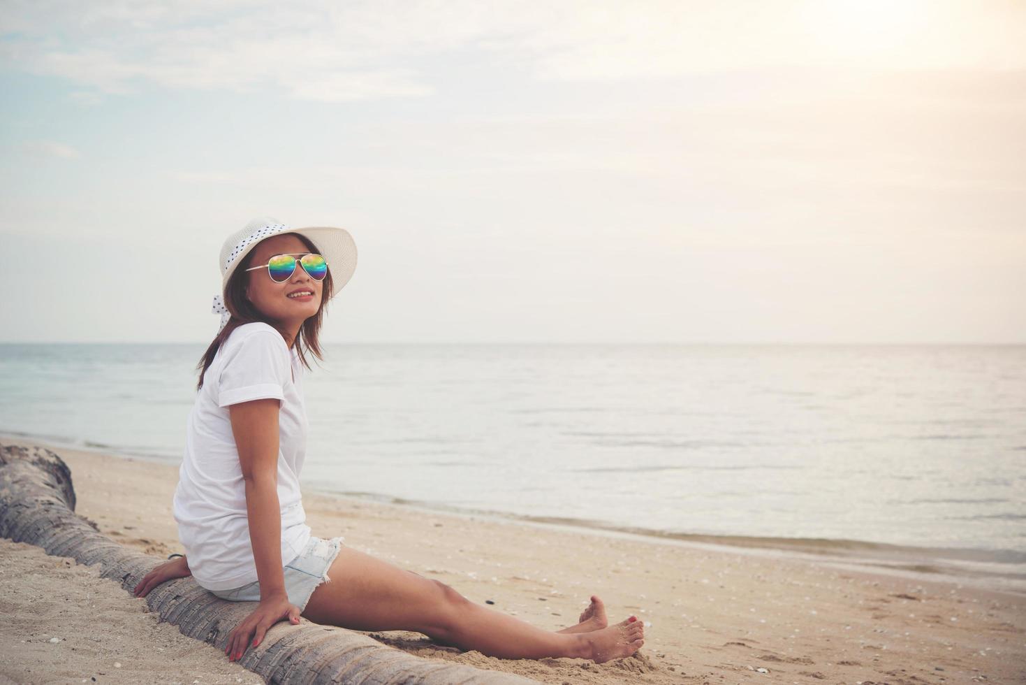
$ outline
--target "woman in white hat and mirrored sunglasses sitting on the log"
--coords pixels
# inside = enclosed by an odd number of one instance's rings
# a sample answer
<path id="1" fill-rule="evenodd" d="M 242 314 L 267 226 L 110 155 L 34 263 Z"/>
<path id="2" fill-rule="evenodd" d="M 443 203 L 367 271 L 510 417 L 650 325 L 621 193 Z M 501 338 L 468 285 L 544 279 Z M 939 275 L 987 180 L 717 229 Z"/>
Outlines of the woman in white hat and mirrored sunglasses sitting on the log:
<path id="1" fill-rule="evenodd" d="M 316 240 L 316 242 L 315 242 Z M 558 632 L 474 604 L 449 585 L 311 535 L 300 497 L 306 446 L 302 366 L 321 358 L 324 306 L 352 276 L 356 248 L 341 228 L 289 229 L 255 219 L 221 251 L 222 314 L 206 350 L 174 518 L 186 556 L 155 568 L 136 597 L 193 575 L 218 597 L 260 604 L 229 636 L 241 658 L 280 620 L 356 631 L 415 631 L 503 658 L 607 661 L 643 644 L 642 622 L 608 625 L 598 597 Z"/>

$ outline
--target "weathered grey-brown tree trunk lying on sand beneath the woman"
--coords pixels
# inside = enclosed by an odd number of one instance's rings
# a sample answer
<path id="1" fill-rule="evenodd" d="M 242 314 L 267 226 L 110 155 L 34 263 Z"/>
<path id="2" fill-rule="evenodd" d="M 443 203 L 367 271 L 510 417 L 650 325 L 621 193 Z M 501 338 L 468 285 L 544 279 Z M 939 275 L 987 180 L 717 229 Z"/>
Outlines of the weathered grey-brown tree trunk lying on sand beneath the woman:
<path id="1" fill-rule="evenodd" d="M 79 564 L 100 564 L 101 575 L 128 593 L 164 560 L 124 547 L 75 513 L 71 469 L 41 447 L 0 445 L 0 535 L 71 557 Z M 146 597 L 159 620 L 183 635 L 224 652 L 228 634 L 252 611 L 252 602 L 228 602 L 196 583 L 192 576 L 158 585 Z M 227 657 L 226 657 L 227 658 Z M 365 635 L 309 621 L 275 624 L 259 647 L 250 647 L 241 665 L 269 683 L 537 683 L 520 676 L 435 661 L 407 654 Z"/>

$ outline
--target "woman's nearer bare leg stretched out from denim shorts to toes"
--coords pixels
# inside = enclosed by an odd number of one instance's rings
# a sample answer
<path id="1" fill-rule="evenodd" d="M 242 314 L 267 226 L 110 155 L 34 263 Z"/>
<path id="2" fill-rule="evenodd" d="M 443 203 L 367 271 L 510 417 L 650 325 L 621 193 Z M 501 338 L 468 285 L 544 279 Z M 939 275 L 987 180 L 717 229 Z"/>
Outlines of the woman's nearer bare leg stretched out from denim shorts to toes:
<path id="1" fill-rule="evenodd" d="M 445 583 L 343 545 L 303 615 L 357 631 L 416 631 L 502 658 L 569 656 L 605 661 L 643 644 L 641 621 L 590 633 L 553 633 L 474 604 Z"/>

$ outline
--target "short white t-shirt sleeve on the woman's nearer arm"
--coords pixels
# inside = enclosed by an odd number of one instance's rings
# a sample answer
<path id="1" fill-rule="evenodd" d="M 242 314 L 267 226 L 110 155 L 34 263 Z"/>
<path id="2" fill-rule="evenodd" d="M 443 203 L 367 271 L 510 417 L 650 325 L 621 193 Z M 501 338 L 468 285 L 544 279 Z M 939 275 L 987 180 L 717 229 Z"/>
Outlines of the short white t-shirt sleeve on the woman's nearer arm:
<path id="1" fill-rule="evenodd" d="M 285 398 L 291 365 L 288 345 L 273 331 L 258 331 L 225 350 L 218 406 L 251 399 Z"/>

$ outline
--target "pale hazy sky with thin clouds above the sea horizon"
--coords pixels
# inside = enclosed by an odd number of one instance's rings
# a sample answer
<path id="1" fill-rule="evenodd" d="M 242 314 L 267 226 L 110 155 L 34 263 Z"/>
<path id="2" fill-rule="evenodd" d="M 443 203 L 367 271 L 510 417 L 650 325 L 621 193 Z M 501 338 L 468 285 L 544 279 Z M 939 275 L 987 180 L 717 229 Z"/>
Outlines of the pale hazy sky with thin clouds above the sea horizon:
<path id="1" fill-rule="evenodd" d="M 1026 343 L 1026 3 L 0 4 L 0 342 L 207 343 L 251 218 L 331 343 Z"/>

